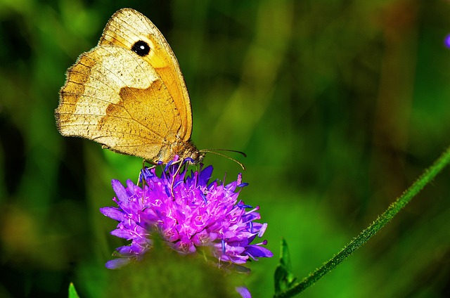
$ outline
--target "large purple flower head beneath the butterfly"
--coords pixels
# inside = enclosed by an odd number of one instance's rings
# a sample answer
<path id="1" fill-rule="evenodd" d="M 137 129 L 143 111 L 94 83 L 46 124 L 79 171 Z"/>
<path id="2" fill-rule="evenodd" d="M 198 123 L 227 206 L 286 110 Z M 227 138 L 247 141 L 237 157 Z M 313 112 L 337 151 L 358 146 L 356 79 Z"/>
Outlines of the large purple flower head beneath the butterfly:
<path id="1" fill-rule="evenodd" d="M 116 255 L 120 258 L 108 261 L 107 268 L 141 259 L 152 247 L 154 233 L 181 254 L 210 247 L 208 251 L 219 265 L 273 257 L 263 246 L 266 240 L 252 244 L 264 235 L 267 224 L 255 222 L 261 217 L 259 207 L 238 200 L 240 188 L 248 185 L 242 183 L 241 174 L 236 181 L 224 185 L 217 180 L 209 183 L 212 166 L 190 171 L 190 175 L 186 168 L 171 162 L 160 176 L 155 173 L 156 168 L 143 169 L 143 188 L 130 180 L 126 188 L 120 181 L 112 181 L 117 195 L 113 201 L 118 207 L 103 207 L 100 211 L 119 221 L 111 234 L 131 240 L 131 244 L 118 247 Z"/>

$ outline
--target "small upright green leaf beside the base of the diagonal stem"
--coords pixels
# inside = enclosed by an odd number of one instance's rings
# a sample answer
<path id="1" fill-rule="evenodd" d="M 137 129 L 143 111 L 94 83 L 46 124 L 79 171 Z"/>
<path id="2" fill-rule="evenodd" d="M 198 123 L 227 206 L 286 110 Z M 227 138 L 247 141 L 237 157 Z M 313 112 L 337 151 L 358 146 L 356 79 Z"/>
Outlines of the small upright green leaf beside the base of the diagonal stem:
<path id="1" fill-rule="evenodd" d="M 280 261 L 276 266 L 274 279 L 276 294 L 288 289 L 297 280 L 292 273 L 288 242 L 284 238 L 281 239 Z"/>

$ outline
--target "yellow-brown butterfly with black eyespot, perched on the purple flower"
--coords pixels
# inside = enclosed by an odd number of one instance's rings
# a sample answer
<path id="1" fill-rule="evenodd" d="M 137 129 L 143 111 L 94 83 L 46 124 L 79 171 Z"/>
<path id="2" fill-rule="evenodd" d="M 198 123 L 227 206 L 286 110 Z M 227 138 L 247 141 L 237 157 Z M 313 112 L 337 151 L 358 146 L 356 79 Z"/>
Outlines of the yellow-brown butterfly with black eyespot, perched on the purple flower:
<path id="1" fill-rule="evenodd" d="M 148 161 L 179 155 L 197 164 L 205 155 L 191 141 L 191 101 L 172 49 L 131 8 L 114 13 L 97 46 L 68 69 L 55 117 L 63 136 Z"/>

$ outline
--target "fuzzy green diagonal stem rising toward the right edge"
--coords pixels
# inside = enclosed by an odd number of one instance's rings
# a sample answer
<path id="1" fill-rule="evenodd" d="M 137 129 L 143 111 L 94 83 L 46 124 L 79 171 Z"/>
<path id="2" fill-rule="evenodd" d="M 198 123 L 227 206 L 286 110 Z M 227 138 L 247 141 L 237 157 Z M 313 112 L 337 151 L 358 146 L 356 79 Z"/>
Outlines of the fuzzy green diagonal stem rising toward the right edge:
<path id="1" fill-rule="evenodd" d="M 424 188 L 432 179 L 435 178 L 437 174 L 439 174 L 444 167 L 450 163 L 450 147 L 447 148 L 444 153 L 436 160 L 431 167 L 426 169 L 422 175 L 420 175 L 419 179 L 413 183 L 395 202 L 387 208 L 387 210 L 378 216 L 378 219 L 373 221 L 373 223 L 368 226 L 364 231 L 362 231 L 358 237 L 354 238 L 348 245 L 346 245 L 338 254 L 335 255 L 332 259 L 323 264 L 320 268 L 316 269 L 313 273 L 310 273 L 309 276 L 304 278 L 302 282 L 295 284 L 290 289 L 285 290 L 279 294 L 274 295 L 276 298 L 281 297 L 293 297 L 295 294 L 299 294 L 303 290 L 307 289 L 307 287 L 316 283 L 322 276 L 326 273 L 330 272 L 338 266 L 342 261 L 347 259 L 355 250 L 364 245 L 373 235 L 375 235 L 380 228 L 383 228 L 385 224 L 387 224 L 406 204 L 411 201 L 411 199 L 419 193 L 422 188 Z"/>

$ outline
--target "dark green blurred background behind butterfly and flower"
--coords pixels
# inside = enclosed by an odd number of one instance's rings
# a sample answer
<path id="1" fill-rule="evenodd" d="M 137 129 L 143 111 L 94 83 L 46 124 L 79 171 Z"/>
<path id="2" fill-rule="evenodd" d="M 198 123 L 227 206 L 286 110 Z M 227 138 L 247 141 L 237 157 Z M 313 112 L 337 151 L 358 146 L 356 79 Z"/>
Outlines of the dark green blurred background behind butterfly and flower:
<path id="1" fill-rule="evenodd" d="M 450 145 L 449 1 L 0 0 L 0 297 L 65 297 L 70 281 L 98 297 L 124 244 L 98 208 L 141 160 L 64 138 L 53 117 L 65 70 L 122 7 L 172 46 L 198 148 L 248 154 L 231 154 L 247 167 L 240 197 L 260 205 L 276 255 L 250 264 L 254 297 L 274 292 L 281 237 L 306 276 Z M 445 169 L 303 297 L 450 297 L 449 181 Z"/>

